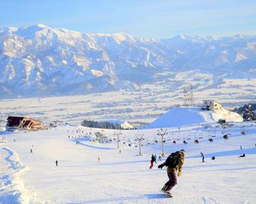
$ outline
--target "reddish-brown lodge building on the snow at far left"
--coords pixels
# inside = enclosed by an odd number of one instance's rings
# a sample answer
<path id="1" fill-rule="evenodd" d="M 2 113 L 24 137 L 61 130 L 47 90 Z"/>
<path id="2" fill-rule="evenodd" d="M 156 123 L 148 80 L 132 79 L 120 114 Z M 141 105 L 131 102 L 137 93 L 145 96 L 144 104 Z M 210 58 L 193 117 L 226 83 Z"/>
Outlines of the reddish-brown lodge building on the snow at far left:
<path id="1" fill-rule="evenodd" d="M 40 120 L 34 120 L 24 116 L 8 116 L 6 129 L 43 129 L 43 123 Z"/>

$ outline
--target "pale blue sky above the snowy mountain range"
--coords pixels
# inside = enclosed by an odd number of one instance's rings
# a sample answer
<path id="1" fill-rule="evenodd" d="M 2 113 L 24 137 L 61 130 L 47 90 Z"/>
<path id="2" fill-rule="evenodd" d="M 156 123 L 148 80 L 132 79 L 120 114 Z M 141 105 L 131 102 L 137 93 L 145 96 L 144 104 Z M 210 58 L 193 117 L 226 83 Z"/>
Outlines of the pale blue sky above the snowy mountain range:
<path id="1" fill-rule="evenodd" d="M 0 0 L 0 27 L 46 24 L 86 33 L 256 34 L 256 0 Z"/>

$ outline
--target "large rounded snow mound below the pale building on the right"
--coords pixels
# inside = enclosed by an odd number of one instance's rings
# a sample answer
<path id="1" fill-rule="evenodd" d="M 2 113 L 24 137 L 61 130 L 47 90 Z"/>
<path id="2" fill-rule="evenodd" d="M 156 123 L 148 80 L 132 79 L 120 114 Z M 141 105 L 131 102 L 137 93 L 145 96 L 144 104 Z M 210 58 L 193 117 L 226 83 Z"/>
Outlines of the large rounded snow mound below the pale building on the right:
<path id="1" fill-rule="evenodd" d="M 215 123 L 218 122 L 219 119 L 224 119 L 227 122 L 243 121 L 238 113 L 233 113 L 224 108 L 215 113 L 212 110 L 203 111 L 199 107 L 175 107 L 157 118 L 157 120 L 154 120 L 154 122 L 146 128 L 151 129 L 186 126 L 197 123 Z"/>

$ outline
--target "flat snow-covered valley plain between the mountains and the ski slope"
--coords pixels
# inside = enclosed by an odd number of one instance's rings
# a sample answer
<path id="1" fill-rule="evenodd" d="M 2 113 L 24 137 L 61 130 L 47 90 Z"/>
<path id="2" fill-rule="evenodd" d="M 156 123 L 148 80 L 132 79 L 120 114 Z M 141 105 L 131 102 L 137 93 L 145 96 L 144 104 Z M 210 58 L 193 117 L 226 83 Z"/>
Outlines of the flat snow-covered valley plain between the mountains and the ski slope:
<path id="1" fill-rule="evenodd" d="M 187 74 L 186 78 L 188 80 L 190 75 Z M 158 84 L 143 85 L 140 91 L 123 90 L 65 97 L 2 99 L 0 100 L 0 126 L 5 126 L 6 118 L 10 115 L 31 116 L 43 120 L 45 125 L 49 125 L 53 120 L 61 120 L 73 125 L 80 125 L 83 120 L 151 123 L 161 114 L 167 113 L 170 107 L 183 104 L 183 88 L 177 88 L 176 82 L 162 81 Z M 241 91 L 238 94 L 238 88 L 230 89 L 230 86 L 238 84 L 236 82 L 226 81 L 227 84 L 222 85 L 221 88 L 210 90 L 205 88 L 196 91 L 195 89 L 195 104 L 200 106 L 203 100 L 212 99 L 219 101 L 228 110 L 232 110 L 239 105 L 253 102 L 255 91 L 240 88 Z M 182 81 L 179 83 L 184 84 Z M 187 83 L 193 83 L 192 79 Z M 243 84 L 243 87 L 247 88 L 250 83 L 256 85 L 252 80 L 241 81 L 238 85 Z M 196 84 L 193 85 L 196 86 Z"/>

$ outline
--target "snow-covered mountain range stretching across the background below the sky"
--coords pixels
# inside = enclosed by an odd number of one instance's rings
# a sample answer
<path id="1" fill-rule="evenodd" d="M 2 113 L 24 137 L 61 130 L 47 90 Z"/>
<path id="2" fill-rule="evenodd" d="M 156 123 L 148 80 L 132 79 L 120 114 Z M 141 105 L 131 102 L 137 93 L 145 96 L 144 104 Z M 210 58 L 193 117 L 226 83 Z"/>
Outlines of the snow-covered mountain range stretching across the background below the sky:
<path id="1" fill-rule="evenodd" d="M 210 75 L 212 88 L 224 83 L 223 76 L 255 78 L 255 64 L 256 37 L 251 36 L 144 40 L 44 24 L 0 30 L 2 98 L 136 90 L 191 70 L 194 81 L 199 80 L 194 72 Z"/>

